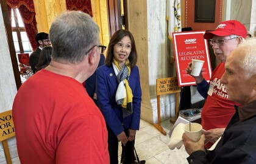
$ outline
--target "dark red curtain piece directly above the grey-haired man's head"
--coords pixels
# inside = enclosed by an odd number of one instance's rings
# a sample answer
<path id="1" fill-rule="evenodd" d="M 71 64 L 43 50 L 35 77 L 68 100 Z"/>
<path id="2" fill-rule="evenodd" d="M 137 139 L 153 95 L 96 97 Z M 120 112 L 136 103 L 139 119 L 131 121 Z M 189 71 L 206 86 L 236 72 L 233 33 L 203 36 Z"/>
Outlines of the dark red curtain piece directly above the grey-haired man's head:
<path id="1" fill-rule="evenodd" d="M 66 0 L 66 10 L 79 10 L 93 16 L 90 0 Z"/>

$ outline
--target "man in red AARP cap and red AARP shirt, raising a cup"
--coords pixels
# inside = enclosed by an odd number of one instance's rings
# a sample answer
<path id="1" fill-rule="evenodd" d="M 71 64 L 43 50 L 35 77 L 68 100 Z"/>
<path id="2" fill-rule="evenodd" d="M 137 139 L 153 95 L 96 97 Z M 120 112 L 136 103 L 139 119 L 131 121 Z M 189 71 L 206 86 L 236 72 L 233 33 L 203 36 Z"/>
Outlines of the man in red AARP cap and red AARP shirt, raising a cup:
<path id="1" fill-rule="evenodd" d="M 221 22 L 214 31 L 204 34 L 204 39 L 210 40 L 216 58 L 221 61 L 212 73 L 210 84 L 205 81 L 202 72 L 198 77 L 193 76 L 196 80 L 197 91 L 206 99 L 202 109 L 201 124 L 206 130 L 204 134 L 207 149 L 223 134 L 230 118 L 235 113 L 233 105 L 239 105 L 227 99 L 226 88 L 220 80 L 225 72 L 224 63 L 227 56 L 243 42 L 246 36 L 246 27 L 236 20 Z M 187 68 L 187 73 L 191 73 L 191 64 Z"/>

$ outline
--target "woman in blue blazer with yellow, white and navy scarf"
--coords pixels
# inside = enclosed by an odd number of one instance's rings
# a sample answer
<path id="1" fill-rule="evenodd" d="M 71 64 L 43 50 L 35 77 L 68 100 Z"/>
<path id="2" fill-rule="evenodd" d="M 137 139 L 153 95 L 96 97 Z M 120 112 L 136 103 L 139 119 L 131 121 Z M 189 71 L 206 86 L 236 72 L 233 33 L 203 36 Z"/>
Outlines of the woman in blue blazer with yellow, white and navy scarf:
<path id="1" fill-rule="evenodd" d="M 108 129 L 110 163 L 118 163 L 121 141 L 125 163 L 134 162 L 133 145 L 140 128 L 141 87 L 135 41 L 127 30 L 116 31 L 108 44 L 105 65 L 97 69 L 99 109 Z M 123 154 L 122 153 L 122 154 Z"/>

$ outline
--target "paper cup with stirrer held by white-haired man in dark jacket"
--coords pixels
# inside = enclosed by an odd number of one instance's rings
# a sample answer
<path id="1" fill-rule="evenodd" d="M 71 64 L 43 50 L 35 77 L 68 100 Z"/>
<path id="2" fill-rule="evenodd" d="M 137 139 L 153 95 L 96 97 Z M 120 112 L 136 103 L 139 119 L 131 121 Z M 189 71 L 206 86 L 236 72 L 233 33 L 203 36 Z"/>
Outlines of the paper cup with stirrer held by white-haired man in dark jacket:
<path id="1" fill-rule="evenodd" d="M 194 142 L 197 142 L 202 135 L 202 125 L 200 125 L 199 123 L 188 123 L 184 125 L 183 129 L 188 138 L 190 138 Z"/>

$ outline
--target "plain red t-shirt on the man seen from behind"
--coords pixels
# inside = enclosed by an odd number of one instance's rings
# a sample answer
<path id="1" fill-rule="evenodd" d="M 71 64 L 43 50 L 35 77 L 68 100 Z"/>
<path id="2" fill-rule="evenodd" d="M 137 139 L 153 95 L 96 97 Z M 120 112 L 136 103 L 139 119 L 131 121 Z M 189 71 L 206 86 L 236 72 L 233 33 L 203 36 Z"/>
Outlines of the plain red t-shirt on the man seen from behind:
<path id="1" fill-rule="evenodd" d="M 109 163 L 104 117 L 73 78 L 44 69 L 30 77 L 13 122 L 21 163 Z"/>

